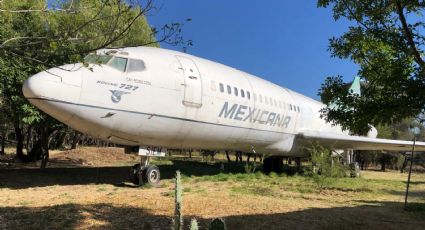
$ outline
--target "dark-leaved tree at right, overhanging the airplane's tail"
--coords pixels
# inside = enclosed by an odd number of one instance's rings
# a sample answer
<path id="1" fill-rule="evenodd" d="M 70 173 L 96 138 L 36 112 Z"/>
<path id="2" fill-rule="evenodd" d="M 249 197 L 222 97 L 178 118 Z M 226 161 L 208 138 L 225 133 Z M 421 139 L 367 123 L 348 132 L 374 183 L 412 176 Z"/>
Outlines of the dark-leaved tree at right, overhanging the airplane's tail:
<path id="1" fill-rule="evenodd" d="M 366 83 L 360 96 L 348 92 L 342 76 L 327 77 L 319 95 L 336 106 L 322 109 L 322 117 L 365 134 L 370 125 L 394 124 L 424 111 L 425 1 L 318 0 L 318 7 L 332 7 L 335 20 L 354 22 L 330 39 L 329 51 L 358 64 Z"/>

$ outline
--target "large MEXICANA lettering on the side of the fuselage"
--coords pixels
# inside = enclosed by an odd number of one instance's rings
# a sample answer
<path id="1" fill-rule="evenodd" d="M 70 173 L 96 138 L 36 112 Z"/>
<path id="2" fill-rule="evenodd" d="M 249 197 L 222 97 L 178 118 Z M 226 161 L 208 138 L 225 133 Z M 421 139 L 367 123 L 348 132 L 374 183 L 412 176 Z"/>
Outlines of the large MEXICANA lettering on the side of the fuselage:
<path id="1" fill-rule="evenodd" d="M 288 128 L 291 116 L 225 102 L 218 117 Z"/>

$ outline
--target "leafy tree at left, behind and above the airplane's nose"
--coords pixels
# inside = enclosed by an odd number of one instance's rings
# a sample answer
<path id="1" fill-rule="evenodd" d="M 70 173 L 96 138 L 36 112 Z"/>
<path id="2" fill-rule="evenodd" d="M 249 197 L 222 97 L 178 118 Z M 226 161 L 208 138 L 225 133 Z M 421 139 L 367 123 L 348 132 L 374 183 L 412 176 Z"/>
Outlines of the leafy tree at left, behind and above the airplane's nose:
<path id="1" fill-rule="evenodd" d="M 21 92 L 25 79 L 52 66 L 81 61 L 100 48 L 159 46 L 158 30 L 145 18 L 153 8 L 152 0 L 144 4 L 140 0 L 0 1 L 0 96 L 2 110 L 15 129 L 19 159 L 48 159 L 50 135 L 64 128 L 25 100 Z M 191 45 L 181 37 L 181 26 L 165 25 L 158 41 Z M 27 133 L 37 134 L 27 155 L 24 127 Z"/>

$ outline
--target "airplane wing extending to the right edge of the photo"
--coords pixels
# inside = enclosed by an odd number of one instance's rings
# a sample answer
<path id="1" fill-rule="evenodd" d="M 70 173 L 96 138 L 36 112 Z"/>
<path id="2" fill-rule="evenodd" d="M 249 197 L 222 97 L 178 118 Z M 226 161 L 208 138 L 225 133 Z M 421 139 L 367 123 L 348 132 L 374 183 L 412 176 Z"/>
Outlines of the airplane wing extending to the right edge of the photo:
<path id="1" fill-rule="evenodd" d="M 335 149 L 412 151 L 413 141 L 348 136 L 320 131 L 302 131 L 297 135 L 302 144 L 317 143 Z M 416 142 L 415 151 L 425 151 L 425 142 Z"/>

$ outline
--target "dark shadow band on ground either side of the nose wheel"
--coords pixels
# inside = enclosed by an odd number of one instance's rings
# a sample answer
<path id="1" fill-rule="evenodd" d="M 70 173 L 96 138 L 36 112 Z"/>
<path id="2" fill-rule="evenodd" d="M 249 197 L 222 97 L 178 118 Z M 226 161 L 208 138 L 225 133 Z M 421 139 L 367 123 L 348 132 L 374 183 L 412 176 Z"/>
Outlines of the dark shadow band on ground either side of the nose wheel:
<path id="1" fill-rule="evenodd" d="M 243 164 L 224 163 L 225 170 L 220 164 L 205 162 L 173 160 L 171 165 L 161 165 L 162 179 L 171 179 L 176 170 L 186 176 L 206 176 L 219 173 L 243 172 Z M 41 171 L 38 168 L 0 169 L 0 188 L 23 189 L 52 185 L 86 185 L 113 184 L 120 186 L 128 181 L 130 166 L 108 167 L 54 167 Z"/>

